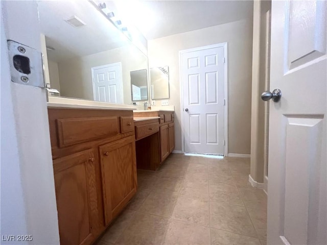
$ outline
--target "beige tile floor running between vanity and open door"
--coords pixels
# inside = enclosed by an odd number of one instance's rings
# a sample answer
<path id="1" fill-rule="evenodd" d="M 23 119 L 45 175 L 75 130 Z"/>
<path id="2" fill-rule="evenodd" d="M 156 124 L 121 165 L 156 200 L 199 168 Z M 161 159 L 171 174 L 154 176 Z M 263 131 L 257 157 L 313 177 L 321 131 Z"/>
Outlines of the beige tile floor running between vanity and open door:
<path id="1" fill-rule="evenodd" d="M 137 193 L 96 244 L 266 244 L 267 196 L 249 172 L 245 158 L 171 154 L 137 171 Z"/>

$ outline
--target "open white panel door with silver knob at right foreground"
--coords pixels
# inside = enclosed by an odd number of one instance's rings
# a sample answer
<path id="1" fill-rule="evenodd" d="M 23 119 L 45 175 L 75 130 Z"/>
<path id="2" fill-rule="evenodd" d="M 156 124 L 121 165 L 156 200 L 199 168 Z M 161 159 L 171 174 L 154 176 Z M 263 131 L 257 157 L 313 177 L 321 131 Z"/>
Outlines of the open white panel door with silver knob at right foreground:
<path id="1" fill-rule="evenodd" d="M 326 1 L 272 1 L 268 244 L 327 244 Z M 266 102 L 267 103 L 267 102 Z"/>

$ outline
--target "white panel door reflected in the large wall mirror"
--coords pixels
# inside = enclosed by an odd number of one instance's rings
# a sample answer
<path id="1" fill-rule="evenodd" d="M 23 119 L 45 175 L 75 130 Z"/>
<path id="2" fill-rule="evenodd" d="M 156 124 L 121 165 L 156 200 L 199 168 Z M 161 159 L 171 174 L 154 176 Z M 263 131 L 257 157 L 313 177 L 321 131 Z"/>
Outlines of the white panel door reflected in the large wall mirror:
<path id="1" fill-rule="evenodd" d="M 95 101 L 123 104 L 121 63 L 92 67 Z"/>

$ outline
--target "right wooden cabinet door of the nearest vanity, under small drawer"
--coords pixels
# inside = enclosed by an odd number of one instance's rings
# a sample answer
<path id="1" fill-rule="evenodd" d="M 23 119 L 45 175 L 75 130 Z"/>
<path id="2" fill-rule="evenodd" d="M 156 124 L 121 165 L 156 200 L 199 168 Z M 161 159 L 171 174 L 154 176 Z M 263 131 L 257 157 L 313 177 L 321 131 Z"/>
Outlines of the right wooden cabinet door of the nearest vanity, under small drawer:
<path id="1" fill-rule="evenodd" d="M 108 225 L 136 192 L 134 136 L 100 146 L 105 223 Z"/>

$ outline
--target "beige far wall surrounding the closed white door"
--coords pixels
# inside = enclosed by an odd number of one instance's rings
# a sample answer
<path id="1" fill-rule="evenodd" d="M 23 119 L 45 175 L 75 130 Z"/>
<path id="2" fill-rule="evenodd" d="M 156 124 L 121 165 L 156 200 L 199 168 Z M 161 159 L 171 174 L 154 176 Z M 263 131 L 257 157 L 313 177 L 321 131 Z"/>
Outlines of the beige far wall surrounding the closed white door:
<path id="1" fill-rule="evenodd" d="M 222 42 L 228 43 L 228 152 L 250 154 L 252 19 L 148 41 L 149 66 L 169 66 L 177 151 L 181 150 L 179 51 Z"/>

